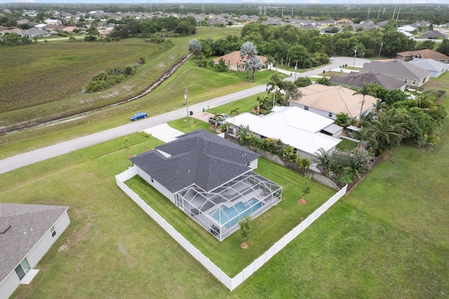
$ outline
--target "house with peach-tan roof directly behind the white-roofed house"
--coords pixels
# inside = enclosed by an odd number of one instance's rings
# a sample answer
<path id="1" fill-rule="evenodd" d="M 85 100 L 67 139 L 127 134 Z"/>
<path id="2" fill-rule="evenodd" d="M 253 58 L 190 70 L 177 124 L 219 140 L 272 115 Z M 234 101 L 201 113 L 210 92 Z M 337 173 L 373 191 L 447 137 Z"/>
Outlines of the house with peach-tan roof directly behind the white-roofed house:
<path id="1" fill-rule="evenodd" d="M 297 106 L 309 110 L 323 117 L 336 119 L 337 114 L 346 113 L 353 119 L 360 114 L 362 95 L 354 95 L 355 91 L 343 86 L 326 86 L 312 84 L 299 88 L 302 97 L 299 101 L 290 101 L 290 106 Z M 365 96 L 362 115 L 375 105 L 376 98 Z"/>

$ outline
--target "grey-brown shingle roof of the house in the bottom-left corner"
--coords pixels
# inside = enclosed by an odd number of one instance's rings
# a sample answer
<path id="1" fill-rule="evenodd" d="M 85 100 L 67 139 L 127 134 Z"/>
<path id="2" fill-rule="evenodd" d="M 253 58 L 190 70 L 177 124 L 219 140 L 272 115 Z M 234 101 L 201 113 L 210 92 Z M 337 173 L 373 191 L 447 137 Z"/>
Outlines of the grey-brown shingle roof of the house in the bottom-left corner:
<path id="1" fill-rule="evenodd" d="M 0 234 L 0 282 L 15 269 L 68 206 L 0 203 L 0 226 L 11 225 Z"/>

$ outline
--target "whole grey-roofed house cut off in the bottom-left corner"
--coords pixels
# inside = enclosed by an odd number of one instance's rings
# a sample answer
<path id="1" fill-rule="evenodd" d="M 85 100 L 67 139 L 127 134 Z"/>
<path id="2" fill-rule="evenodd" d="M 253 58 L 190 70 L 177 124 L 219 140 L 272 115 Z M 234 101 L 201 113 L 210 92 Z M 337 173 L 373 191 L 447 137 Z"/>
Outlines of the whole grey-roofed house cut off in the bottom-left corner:
<path id="1" fill-rule="evenodd" d="M 39 272 L 33 268 L 69 226 L 68 208 L 0 203 L 0 298 Z"/>

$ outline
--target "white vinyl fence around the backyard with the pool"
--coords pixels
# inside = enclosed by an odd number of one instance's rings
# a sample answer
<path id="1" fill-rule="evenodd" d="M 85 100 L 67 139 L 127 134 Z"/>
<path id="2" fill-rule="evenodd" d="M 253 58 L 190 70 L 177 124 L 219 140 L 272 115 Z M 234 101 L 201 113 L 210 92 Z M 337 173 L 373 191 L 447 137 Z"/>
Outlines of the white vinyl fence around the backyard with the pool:
<path id="1" fill-rule="evenodd" d="M 245 269 L 243 269 L 239 274 L 236 274 L 235 277 L 230 278 L 225 272 L 223 272 L 217 265 L 212 263 L 206 255 L 203 255 L 201 251 L 199 251 L 195 246 L 193 246 L 185 237 L 175 230 L 165 219 L 163 219 L 156 211 L 152 209 L 151 206 L 145 203 L 138 194 L 135 194 L 133 190 L 130 189 L 124 182 L 133 178 L 134 175 L 137 175 L 137 171 L 135 166 L 129 168 L 128 170 L 116 175 L 116 183 L 117 185 L 125 192 L 128 197 L 133 199 L 133 201 L 142 208 L 154 221 L 159 224 L 163 230 L 165 230 L 168 234 L 170 234 L 173 239 L 177 241 L 190 255 L 192 255 L 196 260 L 201 263 L 213 276 L 218 279 L 222 284 L 224 284 L 229 290 L 233 291 L 234 288 L 239 286 L 243 281 L 245 281 L 248 277 L 250 277 L 255 271 L 257 271 L 262 265 L 267 263 L 270 258 L 272 258 L 276 253 L 281 251 L 290 241 L 293 241 L 302 231 L 304 231 L 311 223 L 313 223 L 316 219 L 318 219 L 324 212 L 330 208 L 335 202 L 340 199 L 347 190 L 347 185 L 342 188 L 342 190 L 338 191 L 330 197 L 328 201 L 326 201 L 322 206 L 320 206 L 314 213 L 311 213 L 309 217 L 304 219 L 300 225 L 293 228 L 288 234 L 283 236 L 279 241 L 273 244 L 264 254 L 260 255 L 259 258 L 255 259 L 253 263 L 248 265 Z"/>

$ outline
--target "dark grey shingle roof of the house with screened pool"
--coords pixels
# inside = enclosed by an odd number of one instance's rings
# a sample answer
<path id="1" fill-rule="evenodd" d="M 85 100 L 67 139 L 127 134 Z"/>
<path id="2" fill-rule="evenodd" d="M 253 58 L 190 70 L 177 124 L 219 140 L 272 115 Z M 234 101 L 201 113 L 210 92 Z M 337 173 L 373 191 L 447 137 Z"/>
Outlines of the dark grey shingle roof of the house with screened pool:
<path id="1" fill-rule="evenodd" d="M 245 147 L 199 129 L 130 161 L 170 192 L 175 193 L 193 184 L 209 192 L 250 171 L 246 164 L 257 157 L 258 154 Z"/>

